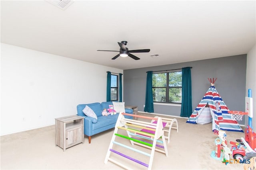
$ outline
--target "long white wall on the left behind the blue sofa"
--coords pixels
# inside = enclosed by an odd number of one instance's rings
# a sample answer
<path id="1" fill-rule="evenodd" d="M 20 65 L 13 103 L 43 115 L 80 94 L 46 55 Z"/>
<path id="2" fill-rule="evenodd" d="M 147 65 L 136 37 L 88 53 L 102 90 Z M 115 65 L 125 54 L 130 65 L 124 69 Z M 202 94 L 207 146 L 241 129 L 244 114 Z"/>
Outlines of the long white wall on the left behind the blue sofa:
<path id="1" fill-rule="evenodd" d="M 1 133 L 55 124 L 106 101 L 106 71 L 123 70 L 1 43 Z"/>

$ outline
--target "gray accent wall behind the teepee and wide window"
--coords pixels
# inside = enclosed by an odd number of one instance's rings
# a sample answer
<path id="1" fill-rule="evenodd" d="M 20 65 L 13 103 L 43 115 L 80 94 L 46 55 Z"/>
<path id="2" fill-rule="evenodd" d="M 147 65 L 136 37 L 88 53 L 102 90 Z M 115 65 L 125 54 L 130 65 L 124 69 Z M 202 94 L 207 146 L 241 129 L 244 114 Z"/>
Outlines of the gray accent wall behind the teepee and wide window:
<path id="1" fill-rule="evenodd" d="M 155 59 L 157 60 L 157 58 Z M 230 110 L 244 111 L 246 54 L 124 70 L 123 98 L 125 105 L 138 106 L 138 111 L 144 111 L 147 71 L 172 70 L 182 67 L 192 67 L 192 111 L 210 87 L 208 77 L 218 78 L 215 88 Z M 154 104 L 154 113 L 180 116 L 180 109 L 180 106 Z M 238 123 L 244 125 L 244 119 Z"/>

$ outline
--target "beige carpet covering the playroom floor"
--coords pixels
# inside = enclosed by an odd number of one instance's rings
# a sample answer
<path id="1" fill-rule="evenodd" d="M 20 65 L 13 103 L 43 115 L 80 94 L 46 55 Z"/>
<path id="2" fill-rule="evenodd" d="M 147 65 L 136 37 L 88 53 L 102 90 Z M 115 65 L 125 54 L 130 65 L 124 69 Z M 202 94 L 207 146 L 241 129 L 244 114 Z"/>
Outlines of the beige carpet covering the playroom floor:
<path id="1" fill-rule="evenodd" d="M 153 115 L 152 115 L 153 116 Z M 167 143 L 169 156 L 155 152 L 152 169 L 207 169 L 207 170 L 236 170 L 243 169 L 243 164 L 227 164 L 210 156 L 215 150 L 214 140 L 217 135 L 212 133 L 212 123 L 193 125 L 186 123 L 187 119 L 177 118 L 179 132 L 172 130 L 170 143 Z M 1 137 L 1 169 L 122 169 L 112 162 L 104 164 L 104 159 L 114 129 L 92 136 L 88 144 L 78 144 L 66 149 L 55 146 L 55 126 L 48 126 L 30 131 L 24 131 Z M 118 133 L 126 134 L 124 131 Z M 227 141 L 235 141 L 244 137 L 244 133 L 228 132 Z M 126 139 L 121 141 L 130 145 Z M 140 146 L 136 146 L 139 149 Z M 127 149 L 126 149 L 127 150 Z M 124 152 L 121 149 L 120 152 Z M 128 151 L 129 152 L 129 151 Z M 137 153 L 130 151 L 131 155 Z M 129 154 L 128 154 L 129 155 Z M 112 158 L 120 159 L 134 169 L 146 169 L 130 160 L 120 158 L 112 153 Z M 147 162 L 147 156 L 140 156 L 142 162 Z"/>

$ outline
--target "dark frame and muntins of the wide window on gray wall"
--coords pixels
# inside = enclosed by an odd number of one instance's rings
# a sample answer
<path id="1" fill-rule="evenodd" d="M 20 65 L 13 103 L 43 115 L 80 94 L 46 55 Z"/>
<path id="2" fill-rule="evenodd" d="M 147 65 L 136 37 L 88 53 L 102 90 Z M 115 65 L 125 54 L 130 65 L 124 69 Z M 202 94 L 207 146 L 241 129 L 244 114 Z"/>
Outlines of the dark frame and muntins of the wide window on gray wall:
<path id="1" fill-rule="evenodd" d="M 181 102 L 169 102 L 169 90 L 171 88 L 180 88 L 181 89 L 181 93 L 182 93 L 182 80 L 181 80 L 181 86 L 169 86 L 169 73 L 170 72 L 181 72 L 182 73 L 182 69 L 153 72 L 153 74 L 166 73 L 166 86 L 154 87 L 153 83 L 152 83 L 152 92 L 154 92 L 153 89 L 157 89 L 157 88 L 165 88 L 166 89 L 166 95 L 165 95 L 166 101 L 165 102 L 157 102 L 157 101 L 154 101 L 154 99 L 153 99 L 154 103 L 157 103 L 157 104 L 181 104 Z M 153 81 L 153 78 L 152 78 L 152 81 Z M 182 94 L 181 94 L 181 101 L 182 101 Z"/>

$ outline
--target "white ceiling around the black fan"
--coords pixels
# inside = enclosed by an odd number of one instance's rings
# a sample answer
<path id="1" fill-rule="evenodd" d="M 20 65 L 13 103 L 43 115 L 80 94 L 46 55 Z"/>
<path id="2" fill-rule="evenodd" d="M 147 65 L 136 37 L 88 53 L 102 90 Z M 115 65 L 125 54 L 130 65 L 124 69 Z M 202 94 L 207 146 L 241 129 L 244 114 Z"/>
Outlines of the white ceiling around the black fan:
<path id="1" fill-rule="evenodd" d="M 246 54 L 255 45 L 253 1 L 1 0 L 1 42 L 123 70 Z M 140 58 L 118 57 L 128 41 Z M 149 55 L 159 54 L 152 58 Z"/>

